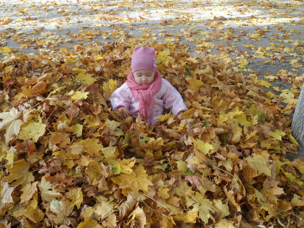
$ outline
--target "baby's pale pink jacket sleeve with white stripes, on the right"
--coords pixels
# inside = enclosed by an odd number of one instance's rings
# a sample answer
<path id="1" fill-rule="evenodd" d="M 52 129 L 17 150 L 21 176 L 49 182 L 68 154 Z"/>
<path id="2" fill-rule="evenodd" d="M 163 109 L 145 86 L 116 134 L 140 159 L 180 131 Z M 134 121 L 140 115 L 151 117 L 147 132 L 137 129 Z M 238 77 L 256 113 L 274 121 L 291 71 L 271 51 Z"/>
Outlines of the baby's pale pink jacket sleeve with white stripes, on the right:
<path id="1" fill-rule="evenodd" d="M 180 93 L 167 81 L 163 81 L 167 87 L 167 92 L 163 95 L 164 107 L 170 109 L 174 115 L 180 111 L 187 111 L 188 108 L 184 104 L 183 98 Z"/>

